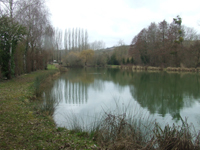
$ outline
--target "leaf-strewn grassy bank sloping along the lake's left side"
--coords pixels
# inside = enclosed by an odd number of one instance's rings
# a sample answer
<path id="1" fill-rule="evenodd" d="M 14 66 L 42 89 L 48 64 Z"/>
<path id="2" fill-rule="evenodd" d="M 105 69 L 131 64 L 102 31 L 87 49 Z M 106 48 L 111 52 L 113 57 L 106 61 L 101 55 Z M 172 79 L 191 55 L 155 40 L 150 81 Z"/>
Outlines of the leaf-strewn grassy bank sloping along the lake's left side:
<path id="1" fill-rule="evenodd" d="M 47 81 L 54 79 L 55 68 L 49 67 L 51 70 L 0 82 L 1 150 L 96 148 L 95 143 L 84 135 L 56 128 L 52 117 L 38 107 L 42 100 L 36 97 L 35 87 L 42 85 L 47 76 Z"/>

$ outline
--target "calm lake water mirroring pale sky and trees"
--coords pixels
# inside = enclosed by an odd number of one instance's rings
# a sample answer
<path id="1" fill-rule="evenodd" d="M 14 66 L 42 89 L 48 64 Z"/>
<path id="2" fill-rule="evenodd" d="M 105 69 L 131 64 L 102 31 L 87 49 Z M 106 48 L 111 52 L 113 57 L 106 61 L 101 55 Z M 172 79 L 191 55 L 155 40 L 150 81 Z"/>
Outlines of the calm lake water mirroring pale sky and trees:
<path id="1" fill-rule="evenodd" d="M 104 111 L 129 109 L 162 126 L 187 118 L 200 129 L 198 73 L 133 72 L 108 68 L 70 69 L 44 92 L 55 101 L 57 126 L 69 127 L 69 116 L 87 125 Z"/>

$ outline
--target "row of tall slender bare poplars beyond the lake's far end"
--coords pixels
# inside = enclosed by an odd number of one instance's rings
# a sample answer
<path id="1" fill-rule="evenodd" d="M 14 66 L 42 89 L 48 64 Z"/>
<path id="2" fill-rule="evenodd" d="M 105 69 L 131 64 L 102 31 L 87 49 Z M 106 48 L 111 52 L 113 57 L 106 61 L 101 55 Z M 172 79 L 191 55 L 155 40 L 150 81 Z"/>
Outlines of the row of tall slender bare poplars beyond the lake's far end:
<path id="1" fill-rule="evenodd" d="M 89 49 L 88 31 L 82 28 L 69 28 L 63 31 L 59 28 L 53 31 L 53 53 L 50 62 L 62 63 L 70 52 L 81 52 Z"/>

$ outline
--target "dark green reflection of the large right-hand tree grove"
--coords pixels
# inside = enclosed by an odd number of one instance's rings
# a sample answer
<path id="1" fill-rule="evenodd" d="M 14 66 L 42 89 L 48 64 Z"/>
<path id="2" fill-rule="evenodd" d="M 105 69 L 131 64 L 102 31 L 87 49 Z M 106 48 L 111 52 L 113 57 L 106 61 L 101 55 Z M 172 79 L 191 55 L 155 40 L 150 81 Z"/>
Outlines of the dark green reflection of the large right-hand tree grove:
<path id="1" fill-rule="evenodd" d="M 200 98 L 199 75 L 140 72 L 132 78 L 130 92 L 142 107 L 180 119 L 180 110 Z M 187 101 L 187 102 L 186 102 Z"/>

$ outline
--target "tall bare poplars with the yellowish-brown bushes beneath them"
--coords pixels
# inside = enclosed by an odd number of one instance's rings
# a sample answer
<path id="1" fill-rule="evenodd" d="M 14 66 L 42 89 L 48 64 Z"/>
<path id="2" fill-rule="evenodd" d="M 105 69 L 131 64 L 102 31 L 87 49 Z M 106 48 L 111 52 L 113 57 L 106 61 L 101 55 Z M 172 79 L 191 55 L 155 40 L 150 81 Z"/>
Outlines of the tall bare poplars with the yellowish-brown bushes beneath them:
<path id="1" fill-rule="evenodd" d="M 64 38 L 64 39 L 63 39 Z M 59 63 L 66 62 L 70 66 L 84 66 L 82 51 L 100 50 L 105 48 L 105 42 L 94 41 L 89 43 L 87 29 L 69 28 L 65 29 L 64 36 L 62 30 L 55 30 L 55 51 L 52 60 Z M 68 59 L 67 59 L 68 58 Z"/>

